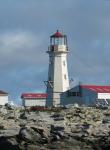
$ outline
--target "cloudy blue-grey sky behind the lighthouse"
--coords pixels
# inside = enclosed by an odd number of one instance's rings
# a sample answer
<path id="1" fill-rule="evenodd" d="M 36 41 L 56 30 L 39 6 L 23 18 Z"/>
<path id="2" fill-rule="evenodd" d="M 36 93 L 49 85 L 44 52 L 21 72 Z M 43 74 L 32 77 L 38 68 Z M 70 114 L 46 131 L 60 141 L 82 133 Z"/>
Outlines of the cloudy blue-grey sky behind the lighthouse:
<path id="1" fill-rule="evenodd" d="M 109 0 L 0 0 L 0 89 L 45 91 L 49 36 L 68 36 L 70 78 L 110 85 Z"/>

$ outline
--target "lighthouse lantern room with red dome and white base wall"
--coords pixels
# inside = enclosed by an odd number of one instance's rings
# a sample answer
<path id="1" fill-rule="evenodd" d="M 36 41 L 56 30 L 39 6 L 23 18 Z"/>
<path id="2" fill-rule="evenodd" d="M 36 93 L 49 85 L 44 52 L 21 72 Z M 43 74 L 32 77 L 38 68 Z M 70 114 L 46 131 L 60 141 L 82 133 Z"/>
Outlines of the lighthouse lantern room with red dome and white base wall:
<path id="1" fill-rule="evenodd" d="M 59 32 L 50 36 L 50 51 L 61 52 L 67 51 L 67 36 Z"/>

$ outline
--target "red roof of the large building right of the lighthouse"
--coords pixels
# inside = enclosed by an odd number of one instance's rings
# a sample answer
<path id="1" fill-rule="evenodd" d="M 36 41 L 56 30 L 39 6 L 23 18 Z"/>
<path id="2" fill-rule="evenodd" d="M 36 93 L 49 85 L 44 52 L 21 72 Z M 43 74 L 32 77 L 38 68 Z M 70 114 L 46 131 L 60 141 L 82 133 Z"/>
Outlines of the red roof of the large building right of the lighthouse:
<path id="1" fill-rule="evenodd" d="M 110 86 L 100 85 L 80 85 L 81 88 L 92 90 L 96 93 L 110 93 Z"/>

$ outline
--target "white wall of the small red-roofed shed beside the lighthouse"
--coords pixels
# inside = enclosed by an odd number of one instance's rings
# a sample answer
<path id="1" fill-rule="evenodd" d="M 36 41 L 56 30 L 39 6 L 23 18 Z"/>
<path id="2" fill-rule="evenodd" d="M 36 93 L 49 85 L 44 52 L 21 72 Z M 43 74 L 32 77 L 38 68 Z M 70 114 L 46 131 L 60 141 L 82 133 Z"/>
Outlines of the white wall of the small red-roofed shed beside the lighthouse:
<path id="1" fill-rule="evenodd" d="M 46 99 L 23 99 L 22 104 L 26 107 L 45 106 Z"/>

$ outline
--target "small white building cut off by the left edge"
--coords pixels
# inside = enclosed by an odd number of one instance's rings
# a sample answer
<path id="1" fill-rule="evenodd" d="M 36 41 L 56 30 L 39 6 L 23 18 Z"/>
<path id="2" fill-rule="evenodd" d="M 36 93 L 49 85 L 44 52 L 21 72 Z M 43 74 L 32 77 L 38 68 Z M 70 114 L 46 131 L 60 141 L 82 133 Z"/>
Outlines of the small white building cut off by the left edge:
<path id="1" fill-rule="evenodd" d="M 8 93 L 0 91 L 0 105 L 8 103 Z"/>

